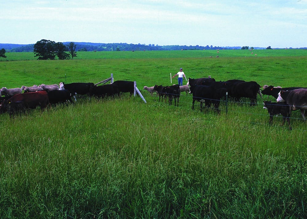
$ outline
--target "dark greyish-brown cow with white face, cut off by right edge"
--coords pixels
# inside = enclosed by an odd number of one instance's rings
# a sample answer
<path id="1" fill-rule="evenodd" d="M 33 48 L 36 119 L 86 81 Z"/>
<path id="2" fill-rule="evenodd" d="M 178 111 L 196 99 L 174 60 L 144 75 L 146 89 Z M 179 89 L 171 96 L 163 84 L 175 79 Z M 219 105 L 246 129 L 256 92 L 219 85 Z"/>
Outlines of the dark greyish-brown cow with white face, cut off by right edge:
<path id="1" fill-rule="evenodd" d="M 286 101 L 289 105 L 290 113 L 292 110 L 301 110 L 301 115 L 305 120 L 305 111 L 307 110 L 307 89 L 281 90 L 276 101 Z"/>

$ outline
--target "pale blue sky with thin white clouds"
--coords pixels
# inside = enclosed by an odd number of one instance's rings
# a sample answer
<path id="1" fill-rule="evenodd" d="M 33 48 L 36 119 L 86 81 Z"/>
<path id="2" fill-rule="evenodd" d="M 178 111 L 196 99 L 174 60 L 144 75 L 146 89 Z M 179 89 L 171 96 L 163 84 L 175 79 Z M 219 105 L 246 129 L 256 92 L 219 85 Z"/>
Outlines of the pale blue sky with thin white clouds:
<path id="1" fill-rule="evenodd" d="M 307 47 L 307 0 L 11 0 L 0 8 L 0 43 Z"/>

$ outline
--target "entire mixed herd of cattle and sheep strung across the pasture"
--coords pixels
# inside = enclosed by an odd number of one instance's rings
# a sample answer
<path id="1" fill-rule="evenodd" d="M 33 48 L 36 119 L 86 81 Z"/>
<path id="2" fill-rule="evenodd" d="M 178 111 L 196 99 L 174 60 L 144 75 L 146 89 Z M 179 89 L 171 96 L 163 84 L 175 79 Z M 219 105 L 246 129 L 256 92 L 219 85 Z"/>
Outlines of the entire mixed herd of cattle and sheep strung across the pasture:
<path id="1" fill-rule="evenodd" d="M 270 114 L 269 122 L 272 123 L 273 116 L 282 114 L 283 123 L 287 120 L 289 129 L 290 126 L 290 113 L 292 110 L 301 110 L 301 115 L 305 119 L 305 111 L 307 111 L 307 88 L 306 87 L 274 87 L 264 86 L 263 90 L 260 85 L 255 81 L 246 82 L 243 80 L 228 80 L 216 81 L 213 78 L 199 78 L 188 79 L 187 85 L 179 86 L 162 86 L 155 85 L 152 87 L 144 86 L 144 90 L 148 90 L 150 94 L 156 92 L 159 96 L 159 101 L 162 98 L 168 98 L 169 105 L 172 105 L 173 100 L 175 106 L 179 106 L 179 98 L 181 92 L 192 94 L 192 109 L 194 109 L 195 101 L 200 102 L 200 110 L 202 110 L 203 103 L 205 107 L 213 108 L 217 113 L 220 113 L 219 105 L 220 100 L 232 98 L 235 102 L 240 98 L 249 98 L 250 105 L 255 106 L 257 103 L 257 95 L 262 97 L 264 95 L 271 95 L 276 98 L 277 102 L 264 101 L 264 108 Z M 14 117 L 16 113 L 25 113 L 26 109 L 34 109 L 40 107 L 42 110 L 50 104 L 58 104 L 71 102 L 72 97 L 75 98 L 76 94 L 84 95 L 89 94 L 98 98 L 106 96 L 119 95 L 120 92 L 129 92 L 130 96 L 134 93 L 133 81 L 115 81 L 111 84 L 97 86 L 94 83 L 70 83 L 59 85 L 34 85 L 31 87 L 22 86 L 21 88 L 2 87 L 0 89 L 0 114 L 8 112 L 10 117 Z M 4 95 L 4 97 L 3 97 Z"/>

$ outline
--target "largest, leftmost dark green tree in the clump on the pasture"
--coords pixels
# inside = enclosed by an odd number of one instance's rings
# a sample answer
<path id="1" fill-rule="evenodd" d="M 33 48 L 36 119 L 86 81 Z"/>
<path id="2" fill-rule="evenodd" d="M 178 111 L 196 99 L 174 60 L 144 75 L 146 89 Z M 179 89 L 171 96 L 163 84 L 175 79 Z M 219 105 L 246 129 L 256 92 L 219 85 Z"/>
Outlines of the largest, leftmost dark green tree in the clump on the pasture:
<path id="1" fill-rule="evenodd" d="M 56 51 L 54 48 L 54 41 L 51 40 L 40 40 L 34 44 L 35 56 L 38 56 L 38 60 L 54 60 L 56 57 Z"/>

